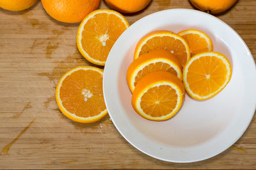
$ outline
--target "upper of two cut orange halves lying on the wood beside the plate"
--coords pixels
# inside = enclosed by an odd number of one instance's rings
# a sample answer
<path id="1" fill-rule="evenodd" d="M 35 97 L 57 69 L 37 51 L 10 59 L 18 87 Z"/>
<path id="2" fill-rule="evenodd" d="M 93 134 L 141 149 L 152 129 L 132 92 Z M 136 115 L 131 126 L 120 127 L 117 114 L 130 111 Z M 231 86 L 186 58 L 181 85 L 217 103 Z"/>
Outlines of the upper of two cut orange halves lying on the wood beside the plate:
<path id="1" fill-rule="evenodd" d="M 95 10 L 80 23 L 78 50 L 89 62 L 105 65 L 114 42 L 128 27 L 127 20 L 117 11 Z"/>

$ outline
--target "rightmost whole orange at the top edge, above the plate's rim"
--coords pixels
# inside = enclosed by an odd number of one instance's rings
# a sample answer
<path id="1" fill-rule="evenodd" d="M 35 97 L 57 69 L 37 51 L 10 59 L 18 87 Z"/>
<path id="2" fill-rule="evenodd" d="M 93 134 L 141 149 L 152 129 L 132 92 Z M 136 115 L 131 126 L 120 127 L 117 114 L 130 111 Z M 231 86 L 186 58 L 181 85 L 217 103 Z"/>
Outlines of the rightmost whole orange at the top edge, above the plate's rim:
<path id="1" fill-rule="evenodd" d="M 207 13 L 222 13 L 228 10 L 237 0 L 189 0 L 191 4 Z"/>

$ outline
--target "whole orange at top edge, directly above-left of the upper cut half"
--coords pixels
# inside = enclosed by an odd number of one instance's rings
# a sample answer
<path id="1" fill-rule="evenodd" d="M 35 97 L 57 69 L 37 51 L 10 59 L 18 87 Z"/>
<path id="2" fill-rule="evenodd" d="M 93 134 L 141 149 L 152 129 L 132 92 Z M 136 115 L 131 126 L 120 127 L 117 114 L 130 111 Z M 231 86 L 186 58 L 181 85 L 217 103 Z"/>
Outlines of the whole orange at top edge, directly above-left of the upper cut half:
<path id="1" fill-rule="evenodd" d="M 55 20 L 64 23 L 81 22 L 90 12 L 96 10 L 100 0 L 41 0 L 43 8 Z"/>

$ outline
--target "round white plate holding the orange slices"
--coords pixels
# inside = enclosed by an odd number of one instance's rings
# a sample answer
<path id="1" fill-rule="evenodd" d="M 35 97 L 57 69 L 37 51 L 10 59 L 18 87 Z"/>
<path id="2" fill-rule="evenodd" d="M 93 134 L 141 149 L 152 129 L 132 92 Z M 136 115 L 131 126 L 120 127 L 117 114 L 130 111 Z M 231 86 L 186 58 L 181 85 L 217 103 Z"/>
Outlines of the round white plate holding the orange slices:
<path id="1" fill-rule="evenodd" d="M 180 111 L 154 122 L 132 108 L 126 81 L 138 40 L 151 30 L 178 33 L 196 28 L 213 40 L 214 51 L 230 60 L 233 75 L 220 94 L 196 101 L 186 95 Z M 115 127 L 134 147 L 167 162 L 197 162 L 233 145 L 250 124 L 256 108 L 256 69 L 250 50 L 238 33 L 218 18 L 191 9 L 169 9 L 132 24 L 114 43 L 103 75 L 107 111 Z"/>

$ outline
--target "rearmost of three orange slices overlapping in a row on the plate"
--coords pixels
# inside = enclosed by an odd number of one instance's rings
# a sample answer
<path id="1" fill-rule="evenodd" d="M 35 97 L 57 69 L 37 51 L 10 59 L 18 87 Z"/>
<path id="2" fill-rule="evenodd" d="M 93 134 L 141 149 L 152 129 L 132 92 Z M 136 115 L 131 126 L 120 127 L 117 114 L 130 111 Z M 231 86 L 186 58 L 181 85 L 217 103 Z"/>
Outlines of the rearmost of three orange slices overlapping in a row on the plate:
<path id="1" fill-rule="evenodd" d="M 169 30 L 154 30 L 144 35 L 135 47 L 134 60 L 150 50 L 168 50 L 178 58 L 182 67 L 191 56 L 186 40 Z"/>

